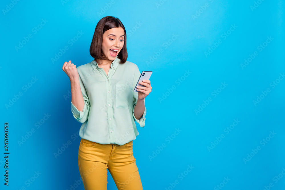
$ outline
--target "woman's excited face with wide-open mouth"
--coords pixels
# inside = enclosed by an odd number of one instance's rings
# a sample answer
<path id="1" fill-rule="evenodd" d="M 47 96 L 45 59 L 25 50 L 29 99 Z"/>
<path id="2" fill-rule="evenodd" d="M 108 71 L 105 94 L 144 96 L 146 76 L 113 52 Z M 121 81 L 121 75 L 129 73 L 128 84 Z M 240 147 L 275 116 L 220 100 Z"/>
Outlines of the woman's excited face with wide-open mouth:
<path id="1" fill-rule="evenodd" d="M 104 32 L 102 52 L 108 60 L 113 61 L 124 46 L 125 32 L 122 27 L 111 28 Z M 115 50 L 115 51 L 114 51 Z"/>

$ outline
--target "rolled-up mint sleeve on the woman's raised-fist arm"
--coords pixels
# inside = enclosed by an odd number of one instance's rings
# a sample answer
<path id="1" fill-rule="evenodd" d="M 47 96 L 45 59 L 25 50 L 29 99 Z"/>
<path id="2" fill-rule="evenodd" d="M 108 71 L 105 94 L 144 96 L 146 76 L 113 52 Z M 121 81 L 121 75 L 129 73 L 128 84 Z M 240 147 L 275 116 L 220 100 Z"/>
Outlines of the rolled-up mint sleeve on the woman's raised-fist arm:
<path id="1" fill-rule="evenodd" d="M 80 89 L 82 92 L 82 96 L 84 99 L 84 107 L 82 111 L 79 111 L 75 105 L 73 105 L 73 103 L 71 102 L 71 112 L 73 117 L 80 123 L 84 123 L 87 119 L 88 119 L 88 114 L 89 114 L 89 110 L 90 110 L 90 104 L 89 104 L 89 99 L 87 96 L 87 92 L 86 89 L 84 87 L 84 84 L 79 76 L 79 83 L 80 83 Z"/>

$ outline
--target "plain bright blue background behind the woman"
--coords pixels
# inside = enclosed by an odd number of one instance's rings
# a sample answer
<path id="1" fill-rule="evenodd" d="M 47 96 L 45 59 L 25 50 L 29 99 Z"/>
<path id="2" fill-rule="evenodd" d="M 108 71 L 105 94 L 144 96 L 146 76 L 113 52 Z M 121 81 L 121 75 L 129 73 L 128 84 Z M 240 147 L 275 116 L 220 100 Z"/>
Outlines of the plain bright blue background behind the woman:
<path id="1" fill-rule="evenodd" d="M 72 116 L 62 66 L 93 60 L 89 46 L 105 16 L 124 24 L 127 60 L 140 71 L 153 71 L 145 127 L 133 142 L 144 189 L 285 188 L 284 1 L 12 2 L 0 3 L 0 154 L 6 152 L 5 122 L 10 152 L 9 187 L 0 156 L 1 189 L 84 189 L 74 185 L 80 179 L 80 137 L 72 135 L 81 123 Z M 84 34 L 70 43 L 78 31 Z M 19 49 L 20 42 L 25 44 Z M 251 62 L 243 66 L 245 59 Z M 36 82 L 30 83 L 32 77 Z M 54 156 L 68 140 L 68 148 Z M 39 176 L 27 183 L 35 172 Z M 117 189 L 110 173 L 108 189 Z"/>

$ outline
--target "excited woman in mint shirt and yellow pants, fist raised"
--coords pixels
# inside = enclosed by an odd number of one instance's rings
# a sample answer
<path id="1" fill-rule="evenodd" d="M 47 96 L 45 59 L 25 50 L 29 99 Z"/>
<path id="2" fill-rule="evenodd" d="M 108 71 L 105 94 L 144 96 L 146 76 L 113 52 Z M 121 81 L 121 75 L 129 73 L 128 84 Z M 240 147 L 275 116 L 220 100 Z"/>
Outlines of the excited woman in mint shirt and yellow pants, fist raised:
<path id="1" fill-rule="evenodd" d="M 118 18 L 102 18 L 93 35 L 94 60 L 76 68 L 64 62 L 71 84 L 71 111 L 82 123 L 78 167 L 86 190 L 107 189 L 107 169 L 118 189 L 143 189 L 133 140 L 145 122 L 150 81 L 134 92 L 140 71 L 127 61 L 126 30 Z"/>

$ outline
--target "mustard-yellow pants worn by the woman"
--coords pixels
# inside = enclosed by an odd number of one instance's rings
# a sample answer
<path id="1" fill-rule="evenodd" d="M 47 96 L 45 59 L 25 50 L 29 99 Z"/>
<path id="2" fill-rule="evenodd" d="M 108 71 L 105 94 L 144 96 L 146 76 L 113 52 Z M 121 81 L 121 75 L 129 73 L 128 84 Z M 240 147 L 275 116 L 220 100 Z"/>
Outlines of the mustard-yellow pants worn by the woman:
<path id="1" fill-rule="evenodd" d="M 81 139 L 78 168 L 85 190 L 107 190 L 107 169 L 118 190 L 143 189 L 133 156 L 133 141 L 124 145 L 99 144 Z"/>

